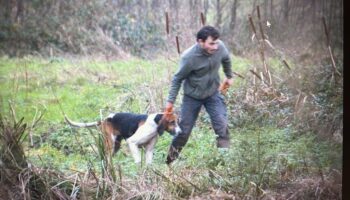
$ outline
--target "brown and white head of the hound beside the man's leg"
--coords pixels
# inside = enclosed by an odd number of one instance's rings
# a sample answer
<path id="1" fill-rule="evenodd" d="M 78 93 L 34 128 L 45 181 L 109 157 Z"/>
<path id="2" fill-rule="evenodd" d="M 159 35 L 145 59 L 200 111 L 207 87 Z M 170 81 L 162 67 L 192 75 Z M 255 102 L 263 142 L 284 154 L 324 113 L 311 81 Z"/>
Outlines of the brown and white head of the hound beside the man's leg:
<path id="1" fill-rule="evenodd" d="M 157 131 L 159 135 L 162 135 L 164 131 L 167 131 L 173 136 L 181 133 L 181 128 L 179 126 L 178 117 L 176 114 L 157 114 L 155 120 L 156 122 L 158 121 Z"/>

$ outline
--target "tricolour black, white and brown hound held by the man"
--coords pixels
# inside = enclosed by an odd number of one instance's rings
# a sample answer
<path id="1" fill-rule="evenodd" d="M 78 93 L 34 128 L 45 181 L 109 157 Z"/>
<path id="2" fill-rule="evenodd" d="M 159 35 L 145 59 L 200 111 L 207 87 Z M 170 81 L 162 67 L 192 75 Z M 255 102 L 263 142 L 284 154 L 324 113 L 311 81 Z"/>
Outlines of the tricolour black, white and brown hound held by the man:
<path id="1" fill-rule="evenodd" d="M 121 141 L 125 139 L 136 163 L 141 162 L 140 147 L 145 147 L 146 164 L 150 164 L 158 135 L 161 136 L 164 131 L 171 135 L 181 132 L 175 114 L 113 113 L 102 121 L 91 123 L 73 122 L 67 116 L 65 120 L 75 127 L 100 126 L 108 153 L 116 153 L 120 149 Z"/>

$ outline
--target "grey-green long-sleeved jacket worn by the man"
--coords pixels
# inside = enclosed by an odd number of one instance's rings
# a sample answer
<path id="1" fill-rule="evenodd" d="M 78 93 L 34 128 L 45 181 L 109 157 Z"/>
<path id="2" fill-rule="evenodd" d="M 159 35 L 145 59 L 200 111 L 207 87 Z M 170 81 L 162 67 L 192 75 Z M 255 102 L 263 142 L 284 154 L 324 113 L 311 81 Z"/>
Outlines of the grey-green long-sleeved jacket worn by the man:
<path id="1" fill-rule="evenodd" d="M 172 79 L 168 102 L 175 102 L 183 80 L 185 95 L 195 99 L 205 99 L 213 95 L 220 86 L 221 64 L 226 77 L 232 77 L 228 50 L 222 41 L 219 41 L 218 45 L 218 50 L 212 55 L 198 43 L 182 54 L 179 69 Z"/>

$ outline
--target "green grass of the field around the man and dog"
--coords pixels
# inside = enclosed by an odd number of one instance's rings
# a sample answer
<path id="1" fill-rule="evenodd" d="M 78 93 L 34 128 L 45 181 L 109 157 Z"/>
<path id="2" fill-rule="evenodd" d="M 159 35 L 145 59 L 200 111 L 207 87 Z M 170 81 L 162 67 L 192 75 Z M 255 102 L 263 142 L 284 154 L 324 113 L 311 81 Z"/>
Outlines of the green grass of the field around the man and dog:
<path id="1" fill-rule="evenodd" d="M 249 74 L 249 60 L 234 57 L 233 66 L 235 72 Z M 101 174 L 102 158 L 96 142 L 99 131 L 69 127 L 63 120 L 63 112 L 75 121 L 99 119 L 100 110 L 103 116 L 109 112 L 161 112 L 171 74 L 176 69 L 177 64 L 161 59 L 106 62 L 0 58 L 1 109 L 2 113 L 10 113 L 8 102 L 11 102 L 17 119 L 24 117 L 28 124 L 32 124 L 35 113 L 45 113 L 31 130 L 34 147 L 25 143 L 26 155 L 34 165 L 66 174 L 90 170 Z M 246 85 L 246 80 L 237 78 L 230 89 L 232 95 Z M 177 108 L 180 98 L 181 94 Z M 117 170 L 114 173 L 119 173 L 118 170 L 121 173 L 118 184 L 123 183 L 129 189 L 128 194 L 119 197 L 210 198 L 223 192 L 228 197 L 260 198 L 274 194 L 266 191 L 278 193 L 277 188 L 298 177 L 341 170 L 340 144 L 319 141 L 314 134 L 297 133 L 290 126 L 264 124 L 254 119 L 256 116 L 242 116 L 246 118 L 244 125 L 235 126 L 239 123 L 233 116 L 230 115 L 232 147 L 221 152 L 215 147 L 215 134 L 207 114 L 200 113 L 172 169 L 165 164 L 172 139 L 169 134 L 159 138 L 154 163 L 147 168 L 134 164 L 123 142 L 112 160 Z"/>

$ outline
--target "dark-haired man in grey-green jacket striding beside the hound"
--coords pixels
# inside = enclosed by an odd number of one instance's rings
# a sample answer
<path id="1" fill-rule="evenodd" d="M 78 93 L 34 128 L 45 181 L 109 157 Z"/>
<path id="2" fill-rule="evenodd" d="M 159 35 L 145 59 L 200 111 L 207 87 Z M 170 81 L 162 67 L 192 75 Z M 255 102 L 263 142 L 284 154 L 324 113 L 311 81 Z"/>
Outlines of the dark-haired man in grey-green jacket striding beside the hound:
<path id="1" fill-rule="evenodd" d="M 227 110 L 219 93 L 219 68 L 222 64 L 226 75 L 224 85 L 232 85 L 231 59 L 219 32 L 212 26 L 204 26 L 197 33 L 197 43 L 181 56 L 180 66 L 172 79 L 166 112 L 172 112 L 173 104 L 184 81 L 184 97 L 181 105 L 180 127 L 182 132 L 175 136 L 167 156 L 167 164 L 173 162 L 187 143 L 202 105 L 210 116 L 217 135 L 217 147 L 230 145 Z"/>

